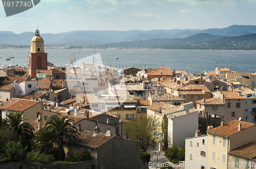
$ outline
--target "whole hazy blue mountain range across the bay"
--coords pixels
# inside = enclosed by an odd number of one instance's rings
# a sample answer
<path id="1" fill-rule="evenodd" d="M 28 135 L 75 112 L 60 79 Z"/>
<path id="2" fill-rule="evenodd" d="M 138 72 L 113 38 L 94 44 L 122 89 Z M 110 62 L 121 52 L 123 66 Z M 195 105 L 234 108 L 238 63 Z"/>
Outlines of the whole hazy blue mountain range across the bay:
<path id="1" fill-rule="evenodd" d="M 28 45 L 35 34 L 0 32 L 0 45 Z M 255 25 L 231 25 L 207 30 L 73 31 L 40 34 L 46 46 L 149 47 L 256 50 Z"/>

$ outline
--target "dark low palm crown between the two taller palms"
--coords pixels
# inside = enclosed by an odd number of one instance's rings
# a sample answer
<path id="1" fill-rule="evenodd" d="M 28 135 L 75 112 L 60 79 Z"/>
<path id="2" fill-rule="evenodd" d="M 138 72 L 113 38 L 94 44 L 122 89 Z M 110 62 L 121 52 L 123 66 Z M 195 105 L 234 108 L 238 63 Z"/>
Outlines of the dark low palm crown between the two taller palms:
<path id="1" fill-rule="evenodd" d="M 56 133 L 49 128 L 39 130 L 32 139 L 34 145 L 32 149 L 38 150 L 40 153 L 51 154 L 54 151 L 56 142 Z"/>

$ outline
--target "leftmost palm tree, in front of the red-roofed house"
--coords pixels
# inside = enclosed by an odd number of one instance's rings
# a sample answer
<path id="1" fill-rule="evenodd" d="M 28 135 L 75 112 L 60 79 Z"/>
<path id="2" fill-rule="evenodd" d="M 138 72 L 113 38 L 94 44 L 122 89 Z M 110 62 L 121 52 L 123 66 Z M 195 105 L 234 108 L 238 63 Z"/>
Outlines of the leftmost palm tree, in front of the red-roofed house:
<path id="1" fill-rule="evenodd" d="M 23 112 L 15 114 L 6 115 L 6 119 L 4 119 L 5 127 L 11 131 L 14 135 L 14 139 L 17 142 L 21 142 L 23 145 L 26 145 L 33 138 L 35 130 L 32 125 L 28 122 L 24 122 L 27 119 L 24 119 Z"/>

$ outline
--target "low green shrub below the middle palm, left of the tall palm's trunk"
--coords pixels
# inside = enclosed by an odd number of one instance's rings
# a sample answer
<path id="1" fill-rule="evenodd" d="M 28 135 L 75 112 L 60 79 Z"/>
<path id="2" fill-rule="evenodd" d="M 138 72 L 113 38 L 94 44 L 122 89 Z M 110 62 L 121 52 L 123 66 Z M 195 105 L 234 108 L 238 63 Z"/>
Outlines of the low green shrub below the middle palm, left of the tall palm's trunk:
<path id="1" fill-rule="evenodd" d="M 40 154 L 39 151 L 29 152 L 27 155 L 27 160 L 44 164 L 51 164 L 53 161 L 55 161 L 52 154 Z"/>

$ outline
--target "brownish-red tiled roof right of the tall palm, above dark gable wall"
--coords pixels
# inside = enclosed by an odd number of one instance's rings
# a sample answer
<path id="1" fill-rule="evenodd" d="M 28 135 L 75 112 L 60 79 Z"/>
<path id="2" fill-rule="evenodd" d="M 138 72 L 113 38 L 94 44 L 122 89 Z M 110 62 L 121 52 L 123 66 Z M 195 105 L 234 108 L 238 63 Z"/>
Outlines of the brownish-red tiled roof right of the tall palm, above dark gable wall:
<path id="1" fill-rule="evenodd" d="M 94 132 L 87 130 L 80 131 L 79 133 L 79 140 L 76 144 L 92 148 L 97 148 L 115 137 L 114 135 L 106 136 L 106 134 L 103 133 L 98 133 L 97 135 L 93 136 Z"/>

